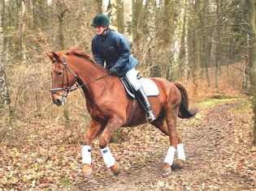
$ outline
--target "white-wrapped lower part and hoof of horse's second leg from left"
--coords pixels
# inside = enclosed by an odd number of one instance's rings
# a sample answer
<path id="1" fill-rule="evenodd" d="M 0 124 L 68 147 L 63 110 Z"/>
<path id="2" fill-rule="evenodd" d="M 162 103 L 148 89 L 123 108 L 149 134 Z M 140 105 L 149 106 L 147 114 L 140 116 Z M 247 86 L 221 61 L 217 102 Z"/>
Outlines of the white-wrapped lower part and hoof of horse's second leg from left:
<path id="1" fill-rule="evenodd" d="M 119 175 L 119 172 L 120 172 L 119 163 L 115 161 L 115 158 L 112 155 L 110 149 L 106 147 L 101 151 L 102 151 L 104 163 L 106 163 L 106 167 L 111 168 L 111 172 L 113 172 L 114 175 Z"/>

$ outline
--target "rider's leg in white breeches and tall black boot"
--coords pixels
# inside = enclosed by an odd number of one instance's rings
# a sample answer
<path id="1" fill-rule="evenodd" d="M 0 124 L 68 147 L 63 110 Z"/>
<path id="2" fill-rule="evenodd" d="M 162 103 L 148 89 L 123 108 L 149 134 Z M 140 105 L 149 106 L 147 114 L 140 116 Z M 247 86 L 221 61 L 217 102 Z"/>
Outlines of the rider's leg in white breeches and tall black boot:
<path id="1" fill-rule="evenodd" d="M 132 84 L 132 87 L 136 91 L 136 96 L 139 100 L 141 100 L 141 104 L 143 104 L 143 108 L 145 108 L 145 112 L 147 113 L 147 120 L 152 122 L 155 120 L 154 113 L 150 106 L 150 102 L 145 95 L 145 91 L 141 87 L 141 82 L 137 79 L 137 71 L 135 68 L 129 70 L 125 76 L 128 78 L 129 82 Z"/>

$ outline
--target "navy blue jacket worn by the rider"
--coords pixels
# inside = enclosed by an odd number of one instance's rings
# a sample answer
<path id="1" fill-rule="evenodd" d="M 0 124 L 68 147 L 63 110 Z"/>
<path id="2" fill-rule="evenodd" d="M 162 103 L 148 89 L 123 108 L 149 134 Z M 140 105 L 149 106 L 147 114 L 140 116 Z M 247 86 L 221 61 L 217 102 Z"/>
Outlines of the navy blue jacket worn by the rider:
<path id="1" fill-rule="evenodd" d="M 137 59 L 130 53 L 130 45 L 124 35 L 107 29 L 103 36 L 94 36 L 92 40 L 93 57 L 106 69 L 116 68 L 116 75 L 123 75 L 137 66 Z"/>

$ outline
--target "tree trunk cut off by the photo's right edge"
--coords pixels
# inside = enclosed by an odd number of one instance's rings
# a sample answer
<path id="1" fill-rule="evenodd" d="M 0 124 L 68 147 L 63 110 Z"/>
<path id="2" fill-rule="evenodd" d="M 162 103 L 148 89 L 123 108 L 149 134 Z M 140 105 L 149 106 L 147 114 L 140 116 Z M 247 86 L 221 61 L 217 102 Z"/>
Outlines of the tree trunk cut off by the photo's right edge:
<path id="1" fill-rule="evenodd" d="M 254 144 L 256 144 L 256 2 L 246 0 L 249 13 L 249 76 L 254 97 Z"/>

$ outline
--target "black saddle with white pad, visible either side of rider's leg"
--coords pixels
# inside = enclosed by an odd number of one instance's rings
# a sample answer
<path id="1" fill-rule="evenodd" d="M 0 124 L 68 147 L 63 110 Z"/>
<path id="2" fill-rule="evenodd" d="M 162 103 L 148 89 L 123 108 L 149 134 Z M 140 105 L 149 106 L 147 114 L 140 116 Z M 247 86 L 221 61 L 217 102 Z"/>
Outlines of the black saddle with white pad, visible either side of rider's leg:
<path id="1" fill-rule="evenodd" d="M 135 90 L 133 89 L 128 79 L 124 75 L 120 76 L 119 79 L 124 84 L 124 88 L 128 93 L 128 96 L 132 97 L 133 99 L 136 99 Z M 141 81 L 141 86 L 143 87 L 146 96 L 159 95 L 158 87 L 156 86 L 153 80 L 141 78 L 141 75 L 139 74 L 137 75 L 137 79 Z"/>

